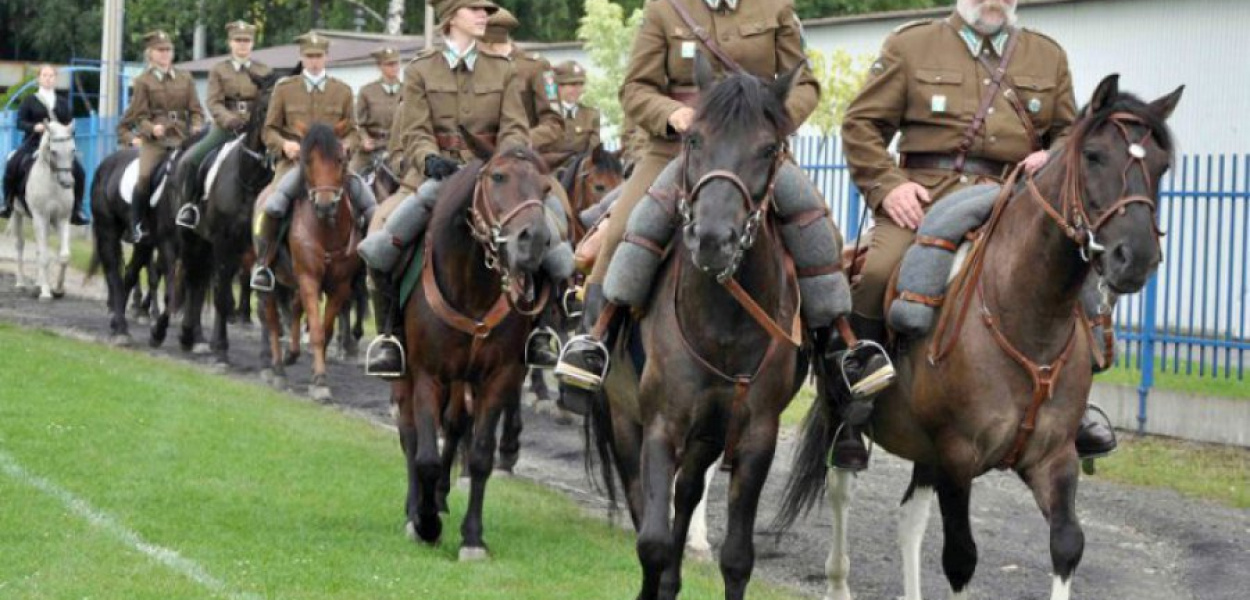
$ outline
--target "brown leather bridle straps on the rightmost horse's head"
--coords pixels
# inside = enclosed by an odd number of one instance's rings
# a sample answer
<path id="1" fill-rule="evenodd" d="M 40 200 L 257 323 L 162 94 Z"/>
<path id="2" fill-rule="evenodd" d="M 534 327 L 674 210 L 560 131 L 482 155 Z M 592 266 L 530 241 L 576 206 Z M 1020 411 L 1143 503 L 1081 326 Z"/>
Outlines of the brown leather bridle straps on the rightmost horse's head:
<path id="1" fill-rule="evenodd" d="M 1064 159 L 1066 161 L 1068 172 L 1064 175 L 1064 186 L 1059 198 L 1062 212 L 1056 211 L 1041 191 L 1038 190 L 1032 176 L 1026 179 L 1030 198 L 1032 198 L 1046 212 L 1046 215 L 1059 225 L 1059 228 L 1064 231 L 1064 235 L 1076 242 L 1080 248 L 1081 259 L 1086 262 L 1092 261 L 1094 256 L 1105 250 L 1105 248 L 1098 242 L 1098 232 L 1101 231 L 1102 228 L 1112 219 L 1124 215 L 1131 204 L 1144 204 L 1150 210 L 1150 222 L 1154 228 L 1156 244 L 1164 235 L 1158 225 L 1158 206 L 1155 205 L 1155 201 L 1146 195 L 1128 194 L 1129 172 L 1134 166 L 1141 169 L 1141 176 L 1146 182 L 1148 192 L 1151 196 L 1155 192 L 1150 182 L 1150 171 L 1146 169 L 1146 142 L 1151 139 L 1149 126 L 1145 135 L 1142 135 L 1138 141 L 1132 141 L 1132 135 L 1129 131 L 1129 124 L 1146 125 L 1141 118 L 1131 112 L 1114 112 L 1109 119 L 1116 129 L 1120 130 L 1120 136 L 1128 146 L 1129 161 L 1124 165 L 1124 172 L 1120 175 L 1121 185 L 1119 200 L 1104 210 L 1096 219 L 1090 218 L 1089 211 L 1085 209 L 1085 200 L 1081 198 L 1082 191 L 1085 190 L 1086 179 L 1085 170 L 1081 164 L 1080 151 L 1081 142 L 1085 141 L 1084 134 L 1080 139 L 1071 140 L 1071 151 L 1069 151 L 1068 156 Z"/>

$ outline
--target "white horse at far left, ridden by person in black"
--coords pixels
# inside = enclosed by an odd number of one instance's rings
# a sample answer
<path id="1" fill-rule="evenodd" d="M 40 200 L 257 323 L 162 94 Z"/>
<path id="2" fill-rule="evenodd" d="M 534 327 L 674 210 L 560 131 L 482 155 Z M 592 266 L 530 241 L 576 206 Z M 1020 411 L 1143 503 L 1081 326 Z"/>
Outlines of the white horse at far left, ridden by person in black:
<path id="1" fill-rule="evenodd" d="M 35 165 L 26 179 L 22 196 L 35 221 L 35 261 L 39 270 L 39 300 L 50 301 L 65 295 L 65 269 L 70 261 L 70 211 L 74 210 L 74 125 L 56 121 L 44 122 L 44 134 L 35 152 Z M 21 210 L 14 210 L 12 221 L 18 246 L 18 289 L 28 286 L 22 246 Z M 52 256 L 48 252 L 48 234 L 56 228 L 61 238 L 61 251 L 56 256 L 56 288 L 49 282 Z"/>

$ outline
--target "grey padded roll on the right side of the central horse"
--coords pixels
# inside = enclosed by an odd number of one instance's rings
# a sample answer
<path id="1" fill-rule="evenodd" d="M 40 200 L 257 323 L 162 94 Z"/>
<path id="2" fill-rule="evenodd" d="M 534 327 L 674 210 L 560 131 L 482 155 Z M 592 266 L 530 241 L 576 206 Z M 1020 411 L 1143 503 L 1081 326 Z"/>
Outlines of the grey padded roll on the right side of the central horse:
<path id="1" fill-rule="evenodd" d="M 824 328 L 834 319 L 851 311 L 851 291 L 840 266 L 841 236 L 820 190 L 808 175 L 790 161 L 781 164 L 774 189 L 778 215 L 781 218 L 781 241 L 794 256 L 799 270 L 799 291 L 802 294 L 802 321 L 808 328 Z M 804 276 L 805 270 L 821 271 Z"/>

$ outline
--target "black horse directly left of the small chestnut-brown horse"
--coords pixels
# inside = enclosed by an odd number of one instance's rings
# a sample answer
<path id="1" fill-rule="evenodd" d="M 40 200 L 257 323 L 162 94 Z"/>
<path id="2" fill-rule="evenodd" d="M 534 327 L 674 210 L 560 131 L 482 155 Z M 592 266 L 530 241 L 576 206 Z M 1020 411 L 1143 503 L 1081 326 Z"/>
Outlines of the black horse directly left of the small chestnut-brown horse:
<path id="1" fill-rule="evenodd" d="M 205 158 L 199 170 L 190 162 L 180 164 L 174 174 L 174 189 L 179 196 L 195 190 L 205 190 L 204 216 L 196 230 L 180 229 L 181 244 L 179 258 L 182 264 L 180 280 L 186 294 L 186 306 L 182 311 L 182 326 L 179 344 L 182 350 L 211 351 L 220 364 L 229 362 L 230 340 L 226 324 L 235 315 L 234 280 L 241 281 L 239 309 L 250 314 L 250 288 L 246 276 L 236 278 L 245 255 L 251 252 L 251 208 L 256 195 L 274 178 L 269 159 L 265 155 L 265 114 L 269 110 L 269 96 L 274 84 L 280 78 L 274 72 L 268 76 L 251 75 L 260 89 L 260 98 L 248 115 L 245 132 L 219 151 L 225 152 Z M 215 162 L 220 161 L 216 166 Z M 216 176 L 208 181 L 209 172 L 216 170 Z M 199 180 L 199 181 L 195 181 Z M 186 200 L 179 198 L 174 205 Z M 244 271 L 246 274 L 246 271 Z M 202 342 L 201 316 L 209 285 L 215 284 L 212 304 L 216 319 L 212 326 L 212 342 Z"/>

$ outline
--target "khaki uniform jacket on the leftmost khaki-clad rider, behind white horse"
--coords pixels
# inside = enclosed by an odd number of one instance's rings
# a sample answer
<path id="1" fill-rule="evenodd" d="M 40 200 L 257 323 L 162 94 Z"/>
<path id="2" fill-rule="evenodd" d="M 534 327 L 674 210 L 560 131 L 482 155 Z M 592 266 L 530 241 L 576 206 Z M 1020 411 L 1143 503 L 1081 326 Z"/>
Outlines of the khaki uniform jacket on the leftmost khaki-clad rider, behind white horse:
<path id="1" fill-rule="evenodd" d="M 118 138 L 122 145 L 138 135 L 146 142 L 174 148 L 204 126 L 204 109 L 195 94 L 195 81 L 184 71 L 170 69 L 170 75 L 156 79 L 155 69 L 148 69 L 131 84 L 134 94 L 121 115 Z M 152 136 L 156 125 L 165 126 L 159 140 Z"/>

